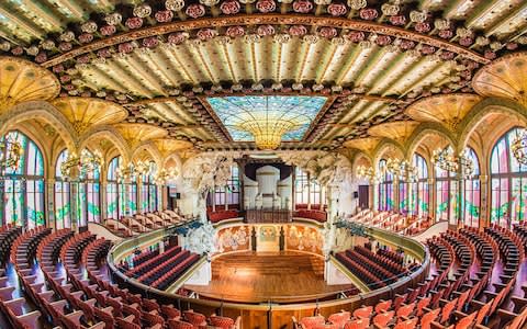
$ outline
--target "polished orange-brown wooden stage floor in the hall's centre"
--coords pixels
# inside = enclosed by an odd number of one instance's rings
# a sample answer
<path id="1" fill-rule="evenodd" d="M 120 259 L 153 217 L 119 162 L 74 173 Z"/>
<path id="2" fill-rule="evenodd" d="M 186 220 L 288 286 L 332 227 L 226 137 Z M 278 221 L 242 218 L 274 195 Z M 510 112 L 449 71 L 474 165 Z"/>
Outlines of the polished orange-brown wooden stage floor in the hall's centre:
<path id="1" fill-rule="evenodd" d="M 313 254 L 284 252 L 237 252 L 212 261 L 209 285 L 184 285 L 202 297 L 231 302 L 281 303 L 314 300 L 314 295 L 334 295 L 351 284 L 327 285 L 324 259 Z"/>

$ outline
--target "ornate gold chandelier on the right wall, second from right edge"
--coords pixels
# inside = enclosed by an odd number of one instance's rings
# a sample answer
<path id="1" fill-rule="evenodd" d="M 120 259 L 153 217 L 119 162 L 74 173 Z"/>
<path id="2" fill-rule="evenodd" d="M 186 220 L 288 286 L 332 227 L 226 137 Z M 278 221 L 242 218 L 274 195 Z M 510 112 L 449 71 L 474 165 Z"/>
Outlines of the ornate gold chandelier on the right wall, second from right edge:
<path id="1" fill-rule="evenodd" d="M 458 156 L 455 155 L 453 148 L 448 146 L 446 148 L 438 148 L 434 150 L 431 162 L 440 169 L 458 174 L 461 169 L 461 177 L 469 179 L 474 173 L 474 163 L 469 157 L 469 149 L 466 148 Z"/>

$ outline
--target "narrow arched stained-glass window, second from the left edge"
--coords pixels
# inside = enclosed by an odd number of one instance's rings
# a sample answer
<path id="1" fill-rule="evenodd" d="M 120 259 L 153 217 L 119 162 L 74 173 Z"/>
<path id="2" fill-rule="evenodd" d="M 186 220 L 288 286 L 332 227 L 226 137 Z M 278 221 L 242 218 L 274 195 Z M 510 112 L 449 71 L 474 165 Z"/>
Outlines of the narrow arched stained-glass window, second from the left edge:
<path id="1" fill-rule="evenodd" d="M 58 155 L 55 164 L 55 228 L 71 227 L 71 185 L 63 177 L 60 166 L 68 159 L 68 150 Z"/>

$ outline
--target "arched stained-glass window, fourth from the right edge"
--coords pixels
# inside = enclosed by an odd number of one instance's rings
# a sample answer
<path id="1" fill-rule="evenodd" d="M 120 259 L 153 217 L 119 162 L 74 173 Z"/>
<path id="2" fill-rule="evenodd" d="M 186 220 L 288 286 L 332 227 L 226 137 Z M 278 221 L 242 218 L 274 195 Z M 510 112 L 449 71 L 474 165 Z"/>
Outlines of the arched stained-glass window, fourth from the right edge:
<path id="1" fill-rule="evenodd" d="M 412 209 L 419 217 L 428 216 L 430 201 L 428 191 L 428 167 L 426 160 L 418 154 L 414 155 L 413 166 L 417 168 L 417 181 L 412 183 Z"/>

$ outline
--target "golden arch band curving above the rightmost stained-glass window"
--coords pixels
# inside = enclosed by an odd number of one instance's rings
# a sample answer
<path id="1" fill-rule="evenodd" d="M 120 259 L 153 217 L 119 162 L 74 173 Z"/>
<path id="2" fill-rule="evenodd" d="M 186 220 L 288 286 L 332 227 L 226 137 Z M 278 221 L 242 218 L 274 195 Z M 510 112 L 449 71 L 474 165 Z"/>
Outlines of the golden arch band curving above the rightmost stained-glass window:
<path id="1" fill-rule="evenodd" d="M 527 125 L 527 109 L 522 104 L 503 98 L 484 99 L 475 104 L 461 121 L 459 125 L 461 133 L 458 138 L 458 150 L 462 150 L 468 145 L 474 129 L 490 114 L 512 115 L 518 118 L 524 125 Z"/>

